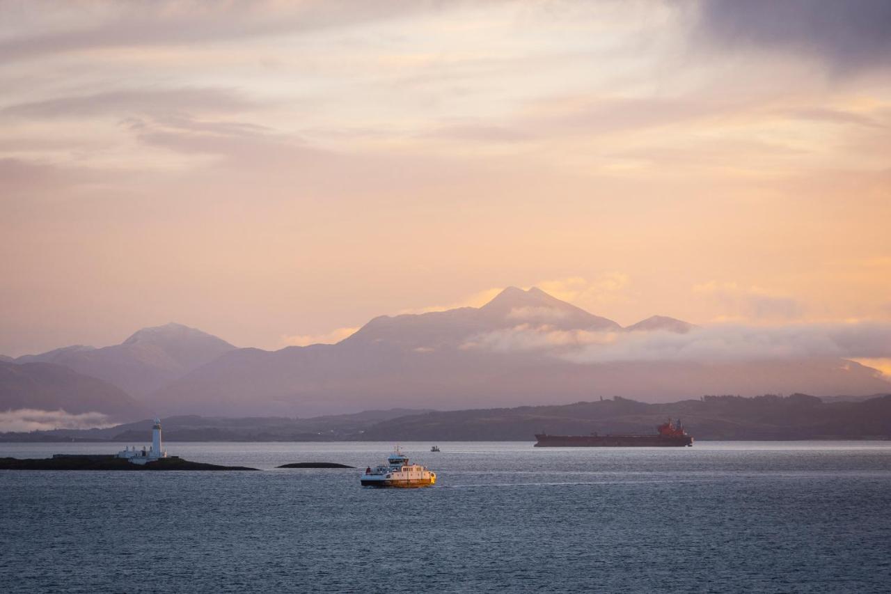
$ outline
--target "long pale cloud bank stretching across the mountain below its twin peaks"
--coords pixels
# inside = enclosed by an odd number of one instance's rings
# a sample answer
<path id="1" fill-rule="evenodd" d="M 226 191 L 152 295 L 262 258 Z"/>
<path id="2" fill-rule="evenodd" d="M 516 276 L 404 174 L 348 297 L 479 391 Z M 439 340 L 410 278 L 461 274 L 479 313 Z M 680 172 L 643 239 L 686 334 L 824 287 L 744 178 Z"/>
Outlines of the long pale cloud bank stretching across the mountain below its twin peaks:
<path id="1" fill-rule="evenodd" d="M 891 324 L 719 325 L 693 328 L 685 334 L 562 331 L 524 324 L 474 336 L 462 348 L 548 351 L 576 363 L 882 359 L 891 356 Z"/>

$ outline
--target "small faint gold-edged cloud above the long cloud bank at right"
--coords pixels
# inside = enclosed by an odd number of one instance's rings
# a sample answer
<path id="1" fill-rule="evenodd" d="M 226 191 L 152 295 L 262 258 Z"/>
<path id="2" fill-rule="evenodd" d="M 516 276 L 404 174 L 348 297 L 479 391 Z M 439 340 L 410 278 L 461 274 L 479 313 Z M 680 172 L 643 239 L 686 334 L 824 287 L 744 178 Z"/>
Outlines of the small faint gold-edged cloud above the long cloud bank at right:
<path id="1" fill-rule="evenodd" d="M 805 310 L 796 299 L 757 286 L 742 287 L 736 283 L 711 281 L 695 285 L 693 292 L 718 301 L 727 312 L 724 319 L 794 319 L 800 318 Z"/>

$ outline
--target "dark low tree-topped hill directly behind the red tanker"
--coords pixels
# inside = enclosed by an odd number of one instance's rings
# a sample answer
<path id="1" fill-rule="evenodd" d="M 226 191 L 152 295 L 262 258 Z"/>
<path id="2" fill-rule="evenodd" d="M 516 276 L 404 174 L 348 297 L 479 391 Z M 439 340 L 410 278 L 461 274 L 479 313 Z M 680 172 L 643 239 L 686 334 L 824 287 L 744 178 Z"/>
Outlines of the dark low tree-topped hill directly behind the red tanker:
<path id="1" fill-rule="evenodd" d="M 861 402 L 825 403 L 805 394 L 706 396 L 650 404 L 626 399 L 563 406 L 432 412 L 367 428 L 363 439 L 402 441 L 528 440 L 535 433 L 655 433 L 681 418 L 699 440 L 891 439 L 891 394 Z"/>

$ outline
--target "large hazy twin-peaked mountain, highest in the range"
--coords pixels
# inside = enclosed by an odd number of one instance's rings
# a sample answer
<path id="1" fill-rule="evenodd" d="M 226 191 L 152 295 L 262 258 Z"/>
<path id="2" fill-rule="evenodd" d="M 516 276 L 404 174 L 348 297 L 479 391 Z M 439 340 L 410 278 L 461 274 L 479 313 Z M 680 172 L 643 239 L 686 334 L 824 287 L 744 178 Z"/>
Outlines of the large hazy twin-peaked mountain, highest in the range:
<path id="1" fill-rule="evenodd" d="M 677 327 L 645 326 L 654 325 Z M 164 414 L 302 417 L 613 395 L 669 401 L 703 392 L 889 389 L 875 370 L 842 359 L 583 363 L 565 356 L 601 332 L 611 340 L 625 330 L 539 289 L 511 287 L 480 308 L 374 318 L 337 344 L 229 351 L 154 392 L 151 401 Z"/>

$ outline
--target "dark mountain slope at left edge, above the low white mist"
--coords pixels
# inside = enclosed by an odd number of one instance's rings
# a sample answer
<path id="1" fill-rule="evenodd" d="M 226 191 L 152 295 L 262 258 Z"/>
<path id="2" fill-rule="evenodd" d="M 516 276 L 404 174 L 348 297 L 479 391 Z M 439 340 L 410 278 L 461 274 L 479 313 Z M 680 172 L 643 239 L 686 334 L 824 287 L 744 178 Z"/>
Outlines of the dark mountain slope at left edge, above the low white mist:
<path id="1" fill-rule="evenodd" d="M 146 414 L 120 388 L 53 363 L 0 362 L 0 411 L 64 410 L 124 420 Z"/>

